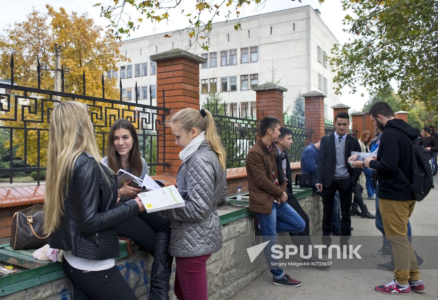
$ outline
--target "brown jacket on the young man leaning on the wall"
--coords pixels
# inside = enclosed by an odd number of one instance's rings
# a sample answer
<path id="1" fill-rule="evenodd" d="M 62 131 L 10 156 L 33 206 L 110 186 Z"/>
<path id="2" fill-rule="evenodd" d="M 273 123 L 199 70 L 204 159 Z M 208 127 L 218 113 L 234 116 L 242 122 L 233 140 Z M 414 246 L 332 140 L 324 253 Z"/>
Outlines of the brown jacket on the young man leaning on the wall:
<path id="1" fill-rule="evenodd" d="M 278 179 L 276 156 L 277 148 L 273 145 L 269 153 L 268 146 L 259 138 L 248 152 L 246 169 L 249 189 L 249 209 L 256 213 L 271 214 L 272 201 L 281 197 L 286 191 L 286 183 L 280 187 L 274 183 L 272 169 Z"/>

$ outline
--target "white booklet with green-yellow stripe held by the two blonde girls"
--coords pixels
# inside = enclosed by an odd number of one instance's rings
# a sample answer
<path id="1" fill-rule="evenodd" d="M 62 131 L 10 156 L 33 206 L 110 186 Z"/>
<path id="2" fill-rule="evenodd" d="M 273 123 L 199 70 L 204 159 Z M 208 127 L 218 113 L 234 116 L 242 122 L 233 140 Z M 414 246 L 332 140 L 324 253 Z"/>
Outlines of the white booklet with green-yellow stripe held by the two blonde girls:
<path id="1" fill-rule="evenodd" d="M 186 205 L 176 186 L 166 186 L 137 195 L 148 213 Z"/>

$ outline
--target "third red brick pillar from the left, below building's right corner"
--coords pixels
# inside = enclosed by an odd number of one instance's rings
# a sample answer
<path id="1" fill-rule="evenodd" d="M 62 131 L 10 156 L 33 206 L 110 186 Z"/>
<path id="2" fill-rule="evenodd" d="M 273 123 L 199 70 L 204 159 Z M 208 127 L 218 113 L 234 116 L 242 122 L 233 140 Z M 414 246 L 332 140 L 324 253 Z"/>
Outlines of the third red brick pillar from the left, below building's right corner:
<path id="1" fill-rule="evenodd" d="M 312 143 L 317 143 L 325 135 L 324 129 L 324 98 L 327 95 L 312 91 L 310 93 L 303 94 L 306 128 L 313 130 Z"/>

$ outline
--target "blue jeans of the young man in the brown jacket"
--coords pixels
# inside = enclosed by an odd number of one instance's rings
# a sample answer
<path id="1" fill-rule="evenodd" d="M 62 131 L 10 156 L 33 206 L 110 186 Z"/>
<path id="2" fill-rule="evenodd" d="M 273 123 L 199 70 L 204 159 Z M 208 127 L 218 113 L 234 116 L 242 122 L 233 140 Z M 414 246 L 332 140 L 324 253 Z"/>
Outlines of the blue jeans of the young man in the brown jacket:
<path id="1" fill-rule="evenodd" d="M 276 244 L 277 233 L 300 233 L 306 227 L 306 223 L 288 203 L 279 204 L 272 202 L 272 213 L 257 213 L 257 217 L 263 241 L 269 241 L 263 252 L 268 266 L 271 267 L 272 262 L 278 262 L 278 259 L 273 259 L 271 256 L 271 248 Z M 281 279 L 284 276 L 282 269 L 271 269 L 271 273 L 275 279 Z"/>

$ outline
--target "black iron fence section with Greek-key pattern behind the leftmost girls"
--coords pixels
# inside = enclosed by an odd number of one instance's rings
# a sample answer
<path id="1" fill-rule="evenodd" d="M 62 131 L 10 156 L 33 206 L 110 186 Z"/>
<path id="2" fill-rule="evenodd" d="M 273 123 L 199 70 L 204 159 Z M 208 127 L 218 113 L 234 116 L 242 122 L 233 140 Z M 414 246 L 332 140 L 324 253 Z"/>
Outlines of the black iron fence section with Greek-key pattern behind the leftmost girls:
<path id="1" fill-rule="evenodd" d="M 61 70 L 61 91 L 40 89 L 40 66 L 38 62 L 38 88 L 17 86 L 14 84 L 14 58 L 11 58 L 11 83 L 0 83 L 0 142 L 4 143 L 4 153 L 0 161 L 0 177 L 29 175 L 36 172 L 35 178 L 40 184 L 42 171 L 46 170 L 46 151 L 50 113 L 56 103 L 64 100 L 80 101 L 88 106 L 90 119 L 95 129 L 98 145 L 105 155 L 108 131 L 111 124 L 120 118 L 126 118 L 134 124 L 138 132 L 141 154 L 148 162 L 153 174 L 156 166 L 168 166 L 165 152 L 159 153 L 157 141 L 164 140 L 162 121 L 170 110 L 165 107 L 138 103 L 137 84 L 135 102 L 122 99 L 120 80 L 120 99 L 106 99 L 104 78 L 102 75 L 102 98 L 85 95 L 85 72 L 82 76 L 83 94 L 64 93 L 64 69 Z M 149 93 L 152 93 L 149 90 Z M 164 103 L 164 91 L 163 91 Z M 68 120 L 66 120 L 68 121 Z"/>

